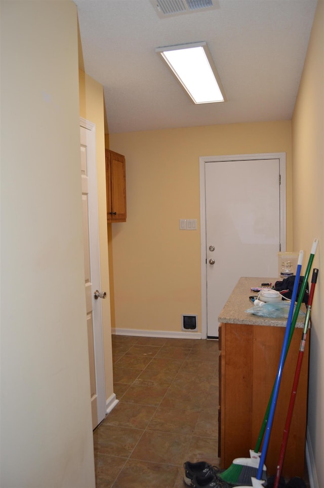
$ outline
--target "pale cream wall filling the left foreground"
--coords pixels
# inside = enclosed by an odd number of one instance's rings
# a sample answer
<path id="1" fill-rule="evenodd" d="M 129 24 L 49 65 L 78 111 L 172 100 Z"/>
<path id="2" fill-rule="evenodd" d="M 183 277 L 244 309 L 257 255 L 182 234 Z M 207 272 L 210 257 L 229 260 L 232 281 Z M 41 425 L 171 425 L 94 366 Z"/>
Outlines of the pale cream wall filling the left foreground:
<path id="1" fill-rule="evenodd" d="M 95 486 L 73 2 L 1 2 L 1 481 Z"/>

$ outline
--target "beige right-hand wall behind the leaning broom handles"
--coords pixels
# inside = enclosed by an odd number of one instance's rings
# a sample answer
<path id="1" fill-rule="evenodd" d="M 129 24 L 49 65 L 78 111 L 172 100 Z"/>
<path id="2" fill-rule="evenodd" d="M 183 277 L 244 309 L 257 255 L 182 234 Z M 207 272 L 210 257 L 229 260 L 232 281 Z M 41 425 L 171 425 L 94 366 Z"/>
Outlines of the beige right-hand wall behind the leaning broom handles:
<path id="1" fill-rule="evenodd" d="M 318 2 L 293 121 L 293 223 L 295 249 L 319 246 L 312 307 L 308 445 L 314 488 L 324 480 L 324 2 Z"/>

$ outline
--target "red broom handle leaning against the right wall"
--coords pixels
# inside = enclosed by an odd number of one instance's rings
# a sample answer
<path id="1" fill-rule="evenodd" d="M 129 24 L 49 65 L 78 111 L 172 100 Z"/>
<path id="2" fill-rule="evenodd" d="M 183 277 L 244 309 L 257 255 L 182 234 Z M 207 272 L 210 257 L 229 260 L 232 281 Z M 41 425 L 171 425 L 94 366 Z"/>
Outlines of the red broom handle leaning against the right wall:
<path id="1" fill-rule="evenodd" d="M 291 425 L 291 421 L 292 421 L 292 417 L 293 417 L 297 387 L 298 387 L 300 371 L 301 371 L 302 362 L 303 362 L 304 349 L 305 349 L 305 344 L 306 344 L 306 339 L 307 339 L 307 329 L 308 329 L 308 323 L 309 323 L 309 318 L 310 318 L 310 312 L 311 312 L 311 308 L 312 308 L 312 302 L 313 302 L 313 296 L 314 296 L 314 289 L 315 289 L 315 285 L 316 285 L 316 281 L 317 281 L 317 275 L 318 275 L 318 269 L 314 268 L 312 280 L 311 280 L 311 287 L 310 287 L 309 296 L 308 296 L 307 312 L 306 312 L 305 323 L 304 323 L 304 328 L 303 328 L 303 335 L 302 335 L 302 340 L 300 343 L 299 354 L 298 354 L 298 359 L 297 359 L 295 378 L 294 378 L 294 383 L 293 383 L 293 388 L 292 388 L 292 394 L 290 397 L 288 414 L 287 414 L 287 419 L 286 419 L 286 424 L 285 424 L 285 429 L 284 429 L 284 435 L 282 437 L 280 454 L 279 454 L 279 461 L 278 461 L 278 465 L 277 465 L 277 469 L 276 469 L 276 475 L 275 475 L 275 479 L 274 479 L 273 488 L 278 488 L 279 479 L 280 479 L 280 475 L 281 475 L 281 471 L 282 471 L 282 465 L 284 464 L 284 458 L 285 458 L 285 454 L 286 454 L 286 447 L 287 447 L 287 442 L 288 442 L 289 429 L 290 429 L 290 425 Z"/>

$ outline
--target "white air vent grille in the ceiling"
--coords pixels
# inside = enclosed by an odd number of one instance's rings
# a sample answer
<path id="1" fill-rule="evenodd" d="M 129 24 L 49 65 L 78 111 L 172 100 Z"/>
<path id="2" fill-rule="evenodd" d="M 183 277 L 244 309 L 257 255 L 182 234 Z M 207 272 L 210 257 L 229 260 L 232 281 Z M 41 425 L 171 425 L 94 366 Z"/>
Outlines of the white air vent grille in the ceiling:
<path id="1" fill-rule="evenodd" d="M 190 14 L 201 10 L 216 9 L 218 0 L 150 0 L 161 19 Z"/>

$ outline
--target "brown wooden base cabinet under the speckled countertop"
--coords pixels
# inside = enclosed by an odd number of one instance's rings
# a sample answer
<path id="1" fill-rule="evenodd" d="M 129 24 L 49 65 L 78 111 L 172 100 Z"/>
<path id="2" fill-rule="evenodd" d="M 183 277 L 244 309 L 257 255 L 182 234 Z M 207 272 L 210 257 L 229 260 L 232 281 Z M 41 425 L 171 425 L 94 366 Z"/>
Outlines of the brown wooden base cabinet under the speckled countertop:
<path id="1" fill-rule="evenodd" d="M 275 381 L 285 327 L 222 323 L 219 333 L 219 457 L 221 468 L 254 449 Z M 282 476 L 304 475 L 309 335 Z M 282 372 L 265 465 L 274 475 L 295 376 L 302 328 L 295 328 Z M 261 445 L 262 448 L 262 445 Z"/>

